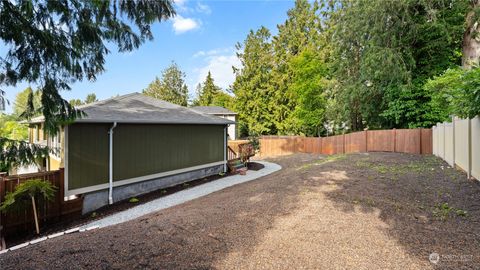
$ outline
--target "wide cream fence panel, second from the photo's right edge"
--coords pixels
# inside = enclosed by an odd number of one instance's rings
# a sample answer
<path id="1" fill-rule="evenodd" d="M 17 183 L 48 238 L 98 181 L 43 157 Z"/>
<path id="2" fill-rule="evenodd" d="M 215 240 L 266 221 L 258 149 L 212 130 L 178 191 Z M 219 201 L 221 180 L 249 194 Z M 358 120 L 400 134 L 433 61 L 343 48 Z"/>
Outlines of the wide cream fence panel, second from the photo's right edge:
<path id="1" fill-rule="evenodd" d="M 464 171 L 469 170 L 469 119 L 455 120 L 455 164 Z"/>

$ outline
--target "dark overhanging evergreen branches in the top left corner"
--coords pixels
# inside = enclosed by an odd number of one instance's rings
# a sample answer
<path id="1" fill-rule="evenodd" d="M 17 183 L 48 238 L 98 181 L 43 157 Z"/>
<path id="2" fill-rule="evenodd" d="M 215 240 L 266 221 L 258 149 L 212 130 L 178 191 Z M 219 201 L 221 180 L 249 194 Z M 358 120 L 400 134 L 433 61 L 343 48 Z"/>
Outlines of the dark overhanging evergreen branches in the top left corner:
<path id="1" fill-rule="evenodd" d="M 6 47 L 0 86 L 38 84 L 45 127 L 55 133 L 81 116 L 61 90 L 75 81 L 94 81 L 105 69 L 111 45 L 132 51 L 153 39 L 153 23 L 174 15 L 170 0 L 0 1 L 0 39 Z"/>

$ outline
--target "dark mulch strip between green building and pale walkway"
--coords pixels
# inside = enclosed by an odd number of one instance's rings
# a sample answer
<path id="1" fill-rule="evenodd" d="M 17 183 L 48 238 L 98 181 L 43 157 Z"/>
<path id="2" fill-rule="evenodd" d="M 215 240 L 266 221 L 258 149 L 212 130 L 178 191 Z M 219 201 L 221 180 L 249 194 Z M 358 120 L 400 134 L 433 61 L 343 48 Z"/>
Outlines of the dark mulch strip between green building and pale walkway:
<path id="1" fill-rule="evenodd" d="M 264 166 L 260 163 L 257 163 L 257 162 L 249 162 L 248 163 L 248 169 L 249 170 L 258 171 L 258 170 L 261 170 L 263 168 L 264 168 Z M 7 237 L 5 238 L 5 241 L 6 241 L 7 247 L 15 246 L 15 245 L 24 243 L 26 241 L 30 241 L 30 240 L 35 239 L 35 238 L 40 238 L 40 237 L 43 237 L 43 236 L 47 236 L 47 235 L 57 233 L 59 231 L 63 231 L 63 230 L 69 229 L 69 228 L 75 228 L 75 227 L 78 227 L 78 226 L 82 226 L 82 225 L 85 225 L 85 224 L 90 223 L 92 221 L 95 221 L 95 220 L 104 218 L 106 216 L 115 214 L 117 212 L 121 212 L 121 211 L 124 211 L 126 209 L 135 207 L 137 205 L 141 205 L 141 204 L 156 200 L 158 198 L 168 196 L 168 195 L 173 194 L 175 192 L 185 190 L 185 189 L 189 189 L 189 188 L 192 188 L 192 187 L 195 187 L 195 186 L 198 186 L 198 185 L 202 185 L 202 184 L 205 184 L 205 183 L 208 183 L 208 182 L 211 182 L 211 181 L 215 181 L 215 180 L 218 180 L 220 178 L 227 177 L 227 176 L 230 176 L 230 175 L 232 175 L 232 174 L 231 173 L 226 173 L 224 175 L 219 175 L 219 174 L 211 175 L 211 176 L 208 176 L 208 177 L 204 177 L 204 178 L 200 178 L 200 179 L 190 181 L 188 183 L 179 184 L 179 185 L 168 187 L 168 188 L 165 188 L 165 189 L 159 189 L 159 190 L 156 190 L 156 191 L 152 191 L 152 192 L 149 192 L 149 193 L 146 193 L 146 194 L 136 196 L 135 198 L 138 199 L 138 202 L 132 203 L 132 202 L 129 202 L 129 199 L 122 200 L 122 201 L 116 202 L 113 205 L 107 205 L 107 206 L 104 206 L 102 208 L 99 208 L 99 209 L 95 210 L 93 213 L 88 213 L 88 214 L 80 216 L 80 217 L 75 217 L 74 219 L 68 219 L 68 220 L 61 221 L 61 222 L 46 224 L 43 227 L 41 227 L 40 235 L 36 235 L 35 228 L 32 227 L 32 232 L 31 233 L 7 235 Z"/>

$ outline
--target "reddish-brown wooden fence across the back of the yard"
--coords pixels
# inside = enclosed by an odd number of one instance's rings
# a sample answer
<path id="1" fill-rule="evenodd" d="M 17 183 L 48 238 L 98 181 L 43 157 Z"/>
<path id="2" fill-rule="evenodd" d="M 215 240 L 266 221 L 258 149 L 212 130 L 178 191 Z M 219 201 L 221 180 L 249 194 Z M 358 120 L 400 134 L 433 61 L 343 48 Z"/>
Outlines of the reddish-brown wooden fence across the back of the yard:
<path id="1" fill-rule="evenodd" d="M 367 130 L 330 137 L 263 136 L 260 156 L 293 153 L 399 152 L 432 154 L 431 129 Z"/>

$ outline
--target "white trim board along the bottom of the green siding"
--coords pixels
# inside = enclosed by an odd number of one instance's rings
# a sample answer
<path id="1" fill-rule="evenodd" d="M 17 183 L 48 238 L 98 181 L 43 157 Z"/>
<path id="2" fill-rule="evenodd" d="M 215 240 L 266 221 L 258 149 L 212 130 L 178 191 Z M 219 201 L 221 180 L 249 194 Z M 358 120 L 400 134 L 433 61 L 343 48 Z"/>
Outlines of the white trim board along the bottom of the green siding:
<path id="1" fill-rule="evenodd" d="M 190 172 L 190 171 L 196 171 L 196 170 L 205 169 L 205 168 L 209 168 L 209 167 L 213 167 L 213 166 L 217 166 L 217 165 L 224 165 L 224 164 L 226 164 L 226 161 L 222 160 L 222 161 L 197 165 L 197 166 L 188 167 L 188 168 L 177 169 L 177 170 L 168 171 L 168 172 L 161 172 L 161 173 L 155 173 L 155 174 L 150 174 L 150 175 L 144 175 L 144 176 L 124 179 L 124 180 L 120 180 L 120 181 L 114 181 L 113 182 L 113 187 L 133 184 L 133 183 L 147 181 L 147 180 L 153 180 L 153 179 L 156 179 L 156 178 L 161 178 L 161 177 L 180 174 L 180 173 L 186 173 L 186 172 Z M 65 167 L 67 167 L 67 166 L 65 166 Z M 66 170 L 66 168 L 65 168 L 65 170 Z M 65 171 L 65 174 L 66 173 L 67 173 L 67 171 Z M 67 180 L 67 179 L 68 179 L 67 176 L 65 176 L 65 180 Z M 104 184 L 90 186 L 90 187 L 68 190 L 68 181 L 65 181 L 65 196 L 68 197 L 68 196 L 71 196 L 71 195 L 78 195 L 78 194 L 98 191 L 98 190 L 107 189 L 107 188 L 108 188 L 108 183 L 104 183 Z"/>

